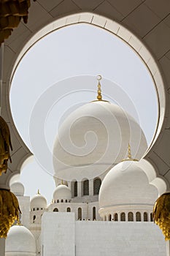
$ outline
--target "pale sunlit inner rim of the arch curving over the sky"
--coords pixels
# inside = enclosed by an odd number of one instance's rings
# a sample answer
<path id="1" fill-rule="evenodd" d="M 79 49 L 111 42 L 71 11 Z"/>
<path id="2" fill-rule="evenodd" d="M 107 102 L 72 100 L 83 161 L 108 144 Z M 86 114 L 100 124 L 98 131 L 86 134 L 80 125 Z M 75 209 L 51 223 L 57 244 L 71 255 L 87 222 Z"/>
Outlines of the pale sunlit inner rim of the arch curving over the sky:
<path id="1" fill-rule="evenodd" d="M 161 83 L 163 85 L 163 80 L 158 70 L 158 65 L 156 64 L 149 50 L 147 50 L 144 44 L 134 34 L 132 34 L 130 31 L 128 31 L 128 29 L 126 29 L 119 23 L 113 20 L 109 20 L 108 18 L 104 18 L 102 16 L 98 16 L 91 13 L 85 13 L 85 12 L 77 15 L 69 15 L 68 17 L 55 20 L 53 24 L 49 24 L 45 26 L 45 28 L 43 28 L 41 31 L 36 33 L 34 37 L 32 37 L 30 41 L 28 41 L 28 43 L 25 45 L 23 50 L 20 52 L 17 61 L 15 62 L 15 67 L 12 72 L 12 77 L 14 75 L 15 70 L 18 67 L 18 64 L 20 63 L 20 60 L 23 58 L 26 52 L 31 48 L 31 46 L 34 45 L 35 42 L 37 42 L 39 39 L 42 39 L 47 34 L 55 31 L 56 29 L 61 29 L 65 26 L 70 26 L 72 24 L 77 24 L 77 23 L 88 23 L 94 26 L 98 26 L 101 29 L 105 29 L 106 31 L 111 32 L 112 34 L 115 34 L 117 37 L 120 37 L 120 39 L 123 39 L 124 42 L 126 42 L 131 48 L 133 48 L 133 50 L 135 50 L 139 58 L 142 59 L 148 71 L 150 72 L 150 75 L 152 76 L 152 80 L 155 83 L 155 89 L 158 94 L 158 124 L 155 129 L 154 138 L 152 140 L 152 143 L 150 143 L 150 147 L 148 148 L 147 152 L 150 151 L 150 148 L 152 148 L 153 144 L 155 143 L 155 140 L 158 138 L 159 132 L 161 131 L 162 122 L 163 122 L 163 118 L 161 118 L 161 116 L 164 116 L 164 109 L 165 109 L 164 108 L 165 106 L 164 91 L 163 91 L 163 86 L 161 86 Z"/>

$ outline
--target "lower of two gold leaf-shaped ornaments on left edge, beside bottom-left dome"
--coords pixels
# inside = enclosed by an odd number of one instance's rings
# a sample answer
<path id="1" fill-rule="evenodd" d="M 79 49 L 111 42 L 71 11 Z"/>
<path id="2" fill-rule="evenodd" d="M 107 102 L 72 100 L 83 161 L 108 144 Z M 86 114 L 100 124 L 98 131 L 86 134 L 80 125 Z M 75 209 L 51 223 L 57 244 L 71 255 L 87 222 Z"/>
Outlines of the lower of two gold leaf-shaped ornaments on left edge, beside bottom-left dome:
<path id="1" fill-rule="evenodd" d="M 7 189 L 0 189 L 0 238 L 7 238 L 9 228 L 21 214 L 18 199 Z"/>

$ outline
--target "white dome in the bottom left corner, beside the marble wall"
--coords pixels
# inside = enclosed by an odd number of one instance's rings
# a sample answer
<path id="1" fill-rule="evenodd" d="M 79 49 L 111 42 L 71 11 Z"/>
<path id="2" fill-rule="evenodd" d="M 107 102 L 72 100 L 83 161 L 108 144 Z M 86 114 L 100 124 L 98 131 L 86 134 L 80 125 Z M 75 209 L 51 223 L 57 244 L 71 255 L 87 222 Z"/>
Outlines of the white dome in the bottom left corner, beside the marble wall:
<path id="1" fill-rule="evenodd" d="M 5 255 L 36 255 L 36 241 L 26 227 L 15 225 L 9 229 Z"/>

